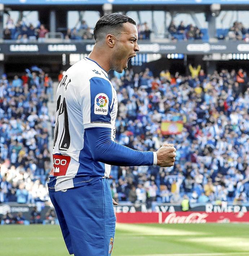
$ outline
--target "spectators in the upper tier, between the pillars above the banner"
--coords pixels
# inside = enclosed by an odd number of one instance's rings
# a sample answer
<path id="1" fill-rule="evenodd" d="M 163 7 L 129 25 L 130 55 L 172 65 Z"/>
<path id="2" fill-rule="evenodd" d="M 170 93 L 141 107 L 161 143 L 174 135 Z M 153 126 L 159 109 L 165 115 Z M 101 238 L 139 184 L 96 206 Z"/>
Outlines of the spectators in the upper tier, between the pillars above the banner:
<path id="1" fill-rule="evenodd" d="M 139 39 L 149 40 L 151 39 L 151 34 L 154 33 L 153 29 L 149 28 L 147 22 L 138 23 L 137 30 Z M 174 19 L 172 19 L 169 24 L 168 32 L 167 37 L 171 41 L 194 39 L 209 40 L 209 34 L 206 28 L 198 28 L 193 24 L 184 24 L 183 21 L 180 21 L 179 24 L 175 24 Z M 47 33 L 49 33 L 48 28 L 46 28 L 44 24 L 41 24 L 39 20 L 35 22 L 35 25 L 27 18 L 19 19 L 17 22 L 14 22 L 13 18 L 9 15 L 5 23 L 4 39 L 16 40 L 22 43 L 36 40 L 43 42 Z M 219 28 L 216 30 L 216 33 L 217 39 L 244 40 L 249 42 L 249 28 L 245 28 L 242 22 L 235 21 L 231 28 Z M 81 20 L 78 21 L 73 28 L 62 31 L 61 35 L 65 41 L 93 39 L 93 28 L 88 26 L 86 20 Z"/>

